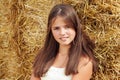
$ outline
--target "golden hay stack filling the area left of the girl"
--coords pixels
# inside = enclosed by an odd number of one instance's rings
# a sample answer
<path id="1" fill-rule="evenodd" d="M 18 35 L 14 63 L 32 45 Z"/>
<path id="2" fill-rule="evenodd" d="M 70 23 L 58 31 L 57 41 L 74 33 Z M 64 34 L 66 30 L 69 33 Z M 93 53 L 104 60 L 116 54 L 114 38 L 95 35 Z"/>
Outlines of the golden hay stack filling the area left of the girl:
<path id="1" fill-rule="evenodd" d="M 52 0 L 1 0 L 0 22 L 8 28 L 6 29 L 1 24 L 0 51 L 6 50 L 6 52 L 0 53 L 5 57 L 0 57 L 1 79 L 29 80 L 33 59 L 44 42 L 48 13 L 51 7 L 58 2 Z M 5 10 L 3 10 L 5 6 Z M 5 16 L 3 17 L 3 15 Z M 6 22 L 3 21 L 4 19 Z M 6 30 L 8 31 L 6 32 Z"/>

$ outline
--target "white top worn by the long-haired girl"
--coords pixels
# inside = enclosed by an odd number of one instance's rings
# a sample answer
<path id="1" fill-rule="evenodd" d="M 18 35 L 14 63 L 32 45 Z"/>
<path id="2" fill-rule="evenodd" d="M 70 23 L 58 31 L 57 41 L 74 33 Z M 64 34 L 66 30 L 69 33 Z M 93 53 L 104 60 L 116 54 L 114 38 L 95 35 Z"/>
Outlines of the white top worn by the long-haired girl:
<path id="1" fill-rule="evenodd" d="M 50 67 L 41 80 L 72 80 L 72 75 L 65 75 L 65 68 Z"/>

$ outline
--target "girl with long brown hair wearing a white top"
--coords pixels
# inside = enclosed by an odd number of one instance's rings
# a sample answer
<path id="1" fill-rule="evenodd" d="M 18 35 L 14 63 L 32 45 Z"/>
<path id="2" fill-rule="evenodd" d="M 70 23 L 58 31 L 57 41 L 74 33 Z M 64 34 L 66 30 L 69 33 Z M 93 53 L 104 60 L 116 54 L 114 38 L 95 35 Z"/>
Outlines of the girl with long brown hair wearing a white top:
<path id="1" fill-rule="evenodd" d="M 31 80 L 90 80 L 95 45 L 83 32 L 72 6 L 58 4 L 48 17 L 45 44 L 35 58 Z"/>

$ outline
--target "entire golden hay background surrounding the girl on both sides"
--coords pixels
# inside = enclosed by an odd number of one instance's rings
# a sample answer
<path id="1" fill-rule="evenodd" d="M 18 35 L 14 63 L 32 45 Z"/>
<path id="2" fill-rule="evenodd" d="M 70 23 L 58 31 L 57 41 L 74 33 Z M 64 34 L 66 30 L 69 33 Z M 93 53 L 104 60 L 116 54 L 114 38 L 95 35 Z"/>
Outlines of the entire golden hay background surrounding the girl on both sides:
<path id="1" fill-rule="evenodd" d="M 47 17 L 58 3 L 74 6 L 95 39 L 99 69 L 91 80 L 120 80 L 120 0 L 0 0 L 0 80 L 29 80 Z"/>

